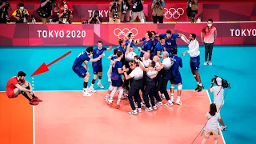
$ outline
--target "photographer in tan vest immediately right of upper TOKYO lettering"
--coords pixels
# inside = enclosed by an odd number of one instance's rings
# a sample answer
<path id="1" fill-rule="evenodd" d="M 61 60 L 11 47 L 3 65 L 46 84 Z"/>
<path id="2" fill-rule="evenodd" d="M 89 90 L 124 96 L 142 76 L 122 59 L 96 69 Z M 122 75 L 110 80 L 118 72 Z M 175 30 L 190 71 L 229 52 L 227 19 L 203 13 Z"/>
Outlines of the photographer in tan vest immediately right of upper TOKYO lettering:
<path id="1" fill-rule="evenodd" d="M 109 21 L 110 23 L 120 23 L 121 22 L 121 14 L 122 14 L 122 3 L 118 2 L 118 0 L 113 0 L 110 2 L 109 6 Z"/>

